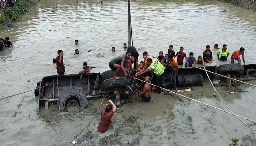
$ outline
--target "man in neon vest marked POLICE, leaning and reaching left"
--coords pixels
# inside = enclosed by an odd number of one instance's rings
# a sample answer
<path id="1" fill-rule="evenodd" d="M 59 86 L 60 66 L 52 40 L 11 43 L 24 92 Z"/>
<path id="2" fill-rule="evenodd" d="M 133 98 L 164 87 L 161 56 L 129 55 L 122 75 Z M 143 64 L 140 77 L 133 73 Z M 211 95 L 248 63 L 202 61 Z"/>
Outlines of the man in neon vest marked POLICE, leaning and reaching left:
<path id="1" fill-rule="evenodd" d="M 138 77 L 144 73 L 147 73 L 149 71 L 153 71 L 153 81 L 155 81 L 155 84 L 159 87 L 162 87 L 162 81 L 163 77 L 165 76 L 165 67 L 161 64 L 161 62 L 158 61 L 158 59 L 147 59 L 147 66 L 148 68 L 144 70 L 143 72 L 139 72 L 135 74 L 135 77 Z M 161 94 L 161 88 L 158 89 L 158 94 Z"/>

